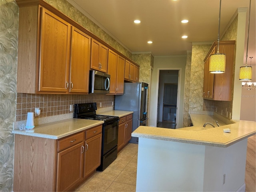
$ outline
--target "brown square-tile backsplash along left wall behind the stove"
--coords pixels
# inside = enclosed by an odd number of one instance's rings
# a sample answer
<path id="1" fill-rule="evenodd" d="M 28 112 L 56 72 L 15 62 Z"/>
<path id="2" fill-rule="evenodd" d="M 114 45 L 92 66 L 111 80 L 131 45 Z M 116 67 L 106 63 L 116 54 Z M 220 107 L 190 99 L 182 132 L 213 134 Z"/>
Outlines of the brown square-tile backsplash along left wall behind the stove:
<path id="1" fill-rule="evenodd" d="M 114 103 L 114 95 L 104 94 L 25 94 L 17 93 L 16 122 L 26 120 L 28 112 L 35 112 L 35 108 L 40 108 L 41 114 L 35 118 L 49 117 L 61 114 L 73 113 L 70 105 L 77 103 L 96 102 L 97 108 L 107 108 Z"/>

